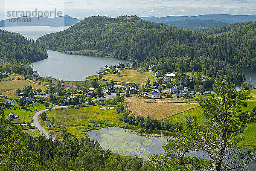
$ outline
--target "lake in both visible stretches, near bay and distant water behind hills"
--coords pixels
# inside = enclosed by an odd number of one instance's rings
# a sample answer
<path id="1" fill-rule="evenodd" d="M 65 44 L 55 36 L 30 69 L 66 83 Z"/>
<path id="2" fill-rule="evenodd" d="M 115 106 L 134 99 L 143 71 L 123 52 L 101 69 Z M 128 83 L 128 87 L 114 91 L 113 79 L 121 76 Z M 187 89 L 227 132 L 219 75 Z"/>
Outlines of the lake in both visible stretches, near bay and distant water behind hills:
<path id="1" fill-rule="evenodd" d="M 29 26 L 29 27 L 0 27 L 9 32 L 18 32 L 36 41 L 42 35 L 59 32 L 65 27 L 50 26 Z M 33 62 L 33 69 L 39 72 L 42 77 L 52 77 L 63 81 L 84 81 L 87 76 L 95 75 L 96 72 L 105 65 L 118 65 L 124 63 L 125 60 L 115 58 L 106 58 L 89 55 L 68 55 L 60 52 L 47 50 L 48 58 L 42 61 Z M 132 61 L 127 61 L 132 64 Z"/>

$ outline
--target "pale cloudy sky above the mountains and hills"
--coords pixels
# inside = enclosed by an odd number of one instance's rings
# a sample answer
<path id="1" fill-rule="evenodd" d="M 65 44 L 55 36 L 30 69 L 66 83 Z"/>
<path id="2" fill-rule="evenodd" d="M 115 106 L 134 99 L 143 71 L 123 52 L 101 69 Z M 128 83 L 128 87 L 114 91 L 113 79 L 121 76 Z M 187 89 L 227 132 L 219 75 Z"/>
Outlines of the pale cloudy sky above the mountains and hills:
<path id="1" fill-rule="evenodd" d="M 0 0 L 0 19 L 8 11 L 57 9 L 72 17 L 92 15 L 139 17 L 201 14 L 256 14 L 256 0 Z"/>

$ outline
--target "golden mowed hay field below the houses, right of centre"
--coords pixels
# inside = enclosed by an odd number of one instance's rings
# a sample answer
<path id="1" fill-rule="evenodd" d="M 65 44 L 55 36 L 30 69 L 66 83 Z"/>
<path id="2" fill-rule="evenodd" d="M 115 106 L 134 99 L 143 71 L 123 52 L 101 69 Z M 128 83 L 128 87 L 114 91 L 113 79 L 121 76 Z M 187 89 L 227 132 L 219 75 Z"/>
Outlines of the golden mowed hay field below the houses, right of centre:
<path id="1" fill-rule="evenodd" d="M 190 110 L 198 106 L 197 103 L 187 103 L 178 99 L 137 99 L 129 97 L 125 99 L 127 109 L 131 114 L 162 120 L 177 113 Z"/>

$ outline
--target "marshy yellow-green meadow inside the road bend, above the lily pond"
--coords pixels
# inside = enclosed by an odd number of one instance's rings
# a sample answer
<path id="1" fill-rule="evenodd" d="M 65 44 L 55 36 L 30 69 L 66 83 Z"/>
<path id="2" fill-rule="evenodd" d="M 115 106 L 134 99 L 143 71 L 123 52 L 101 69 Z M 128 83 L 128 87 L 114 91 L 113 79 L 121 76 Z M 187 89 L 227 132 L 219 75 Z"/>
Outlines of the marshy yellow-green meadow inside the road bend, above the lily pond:
<path id="1" fill-rule="evenodd" d="M 62 108 L 47 111 L 47 121 L 41 120 L 41 115 L 39 115 L 39 120 L 41 125 L 43 125 L 48 131 L 52 130 L 58 139 L 61 139 L 60 129 L 61 126 L 64 127 L 72 133 L 72 135 L 81 137 L 87 136 L 85 132 L 88 130 L 99 129 L 97 125 L 100 124 L 101 127 L 116 126 L 125 127 L 128 124 L 123 124 L 119 121 L 120 115 L 116 113 L 116 109 L 113 110 L 103 110 L 100 109 L 102 106 L 87 106 L 87 107 L 74 107 L 74 108 Z M 113 105 L 113 107 L 116 107 Z M 52 116 L 55 119 L 55 125 L 53 128 L 48 128 L 47 125 L 50 124 Z"/>

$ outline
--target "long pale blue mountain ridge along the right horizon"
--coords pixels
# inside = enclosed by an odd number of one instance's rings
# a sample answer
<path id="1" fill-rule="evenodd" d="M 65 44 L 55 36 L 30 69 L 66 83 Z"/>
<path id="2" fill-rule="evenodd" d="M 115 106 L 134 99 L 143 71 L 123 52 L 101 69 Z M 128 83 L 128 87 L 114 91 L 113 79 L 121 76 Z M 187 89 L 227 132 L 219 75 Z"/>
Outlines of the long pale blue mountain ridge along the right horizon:
<path id="1" fill-rule="evenodd" d="M 167 23 L 169 21 L 184 20 L 215 20 L 224 23 L 244 23 L 256 21 L 256 15 L 231 15 L 231 14 L 204 14 L 198 16 L 166 16 L 166 17 L 141 17 L 143 20 L 155 23 Z"/>

